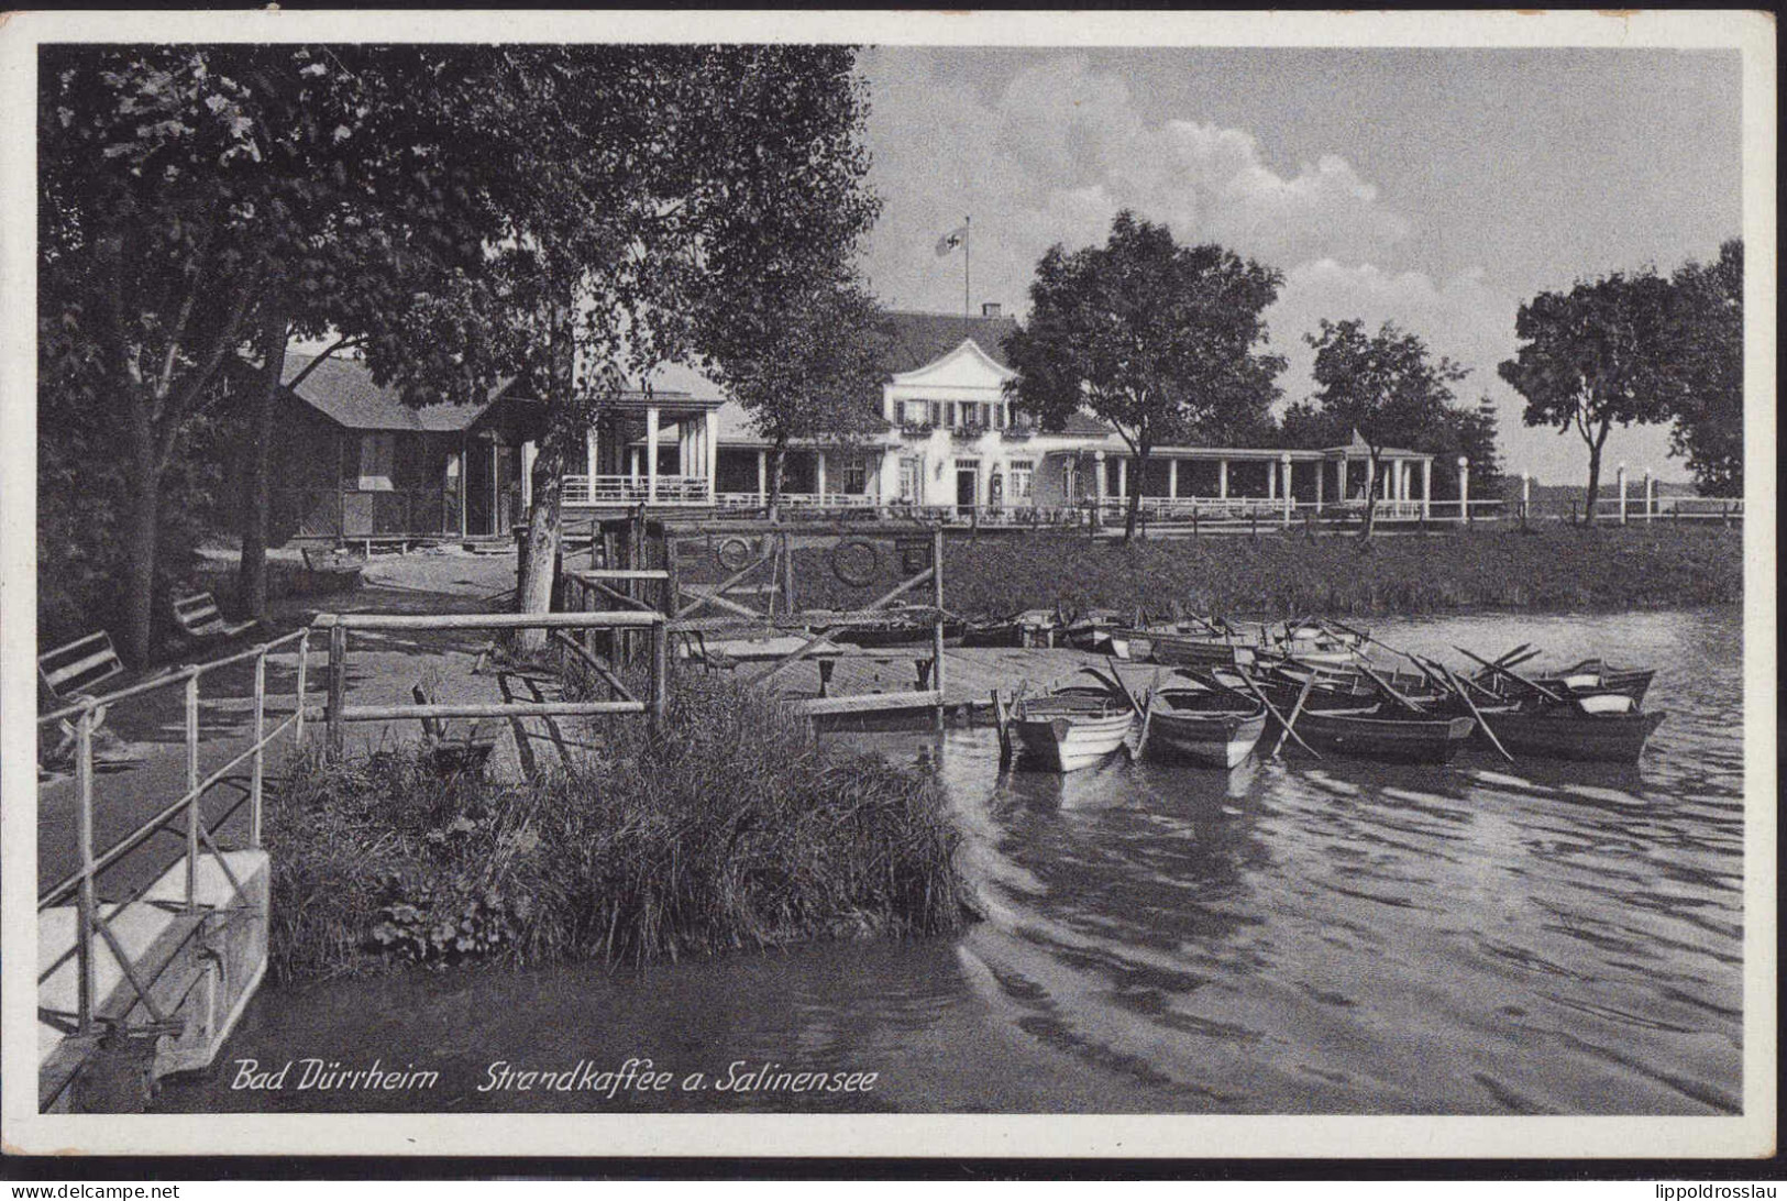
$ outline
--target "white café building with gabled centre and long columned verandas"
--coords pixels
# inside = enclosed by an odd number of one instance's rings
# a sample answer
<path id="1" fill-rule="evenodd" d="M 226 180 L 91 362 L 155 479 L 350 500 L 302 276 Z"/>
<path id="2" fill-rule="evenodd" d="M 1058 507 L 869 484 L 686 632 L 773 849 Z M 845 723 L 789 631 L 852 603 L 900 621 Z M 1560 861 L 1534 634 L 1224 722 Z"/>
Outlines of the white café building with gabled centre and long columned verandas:
<path id="1" fill-rule="evenodd" d="M 851 443 L 801 443 L 783 468 L 790 506 L 979 513 L 1040 520 L 1133 491 L 1156 513 L 1292 513 L 1363 497 L 1371 456 L 1355 436 L 1324 450 L 1158 447 L 1147 477 L 1128 443 L 1078 415 L 1045 433 L 1013 422 L 1004 340 L 1017 322 L 985 306 L 977 318 L 890 313 L 883 429 Z M 668 366 L 649 391 L 608 406 L 588 434 L 588 470 L 566 479 L 574 511 L 633 504 L 761 508 L 770 491 L 770 441 L 749 413 L 688 368 Z M 1385 450 L 1385 517 L 1419 517 L 1431 499 L 1433 458 Z M 1419 479 L 1417 479 L 1419 477 Z"/>

